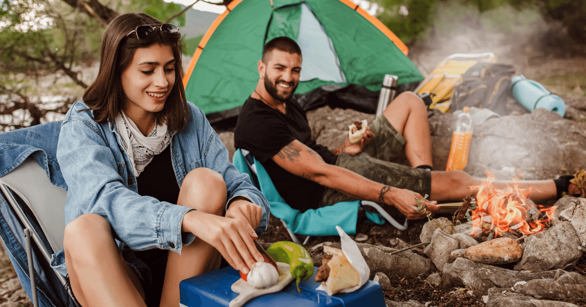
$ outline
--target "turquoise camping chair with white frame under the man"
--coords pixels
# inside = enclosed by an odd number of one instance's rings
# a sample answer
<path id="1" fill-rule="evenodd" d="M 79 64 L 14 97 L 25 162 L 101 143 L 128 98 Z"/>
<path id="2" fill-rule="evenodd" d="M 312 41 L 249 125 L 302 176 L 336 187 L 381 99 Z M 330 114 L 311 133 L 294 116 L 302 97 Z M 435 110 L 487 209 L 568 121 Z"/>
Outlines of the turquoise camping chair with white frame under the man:
<path id="1" fill-rule="evenodd" d="M 398 230 L 406 230 L 408 220 L 399 224 L 379 204 L 372 201 L 342 201 L 318 209 L 310 209 L 305 212 L 295 210 L 279 195 L 277 188 L 268 177 L 263 164 L 258 162 L 247 150 L 237 149 L 232 158 L 234 165 L 240 173 L 247 173 L 254 185 L 267 197 L 271 205 L 271 214 L 279 218 L 292 241 L 299 243 L 295 234 L 307 235 L 303 245 L 307 244 L 309 237 L 313 235 L 338 235 L 336 225 L 340 226 L 347 234 L 356 234 L 356 221 L 358 210 L 362 205 L 373 208 L 376 212 L 366 212 L 366 217 L 376 224 L 384 224 L 387 220 Z"/>

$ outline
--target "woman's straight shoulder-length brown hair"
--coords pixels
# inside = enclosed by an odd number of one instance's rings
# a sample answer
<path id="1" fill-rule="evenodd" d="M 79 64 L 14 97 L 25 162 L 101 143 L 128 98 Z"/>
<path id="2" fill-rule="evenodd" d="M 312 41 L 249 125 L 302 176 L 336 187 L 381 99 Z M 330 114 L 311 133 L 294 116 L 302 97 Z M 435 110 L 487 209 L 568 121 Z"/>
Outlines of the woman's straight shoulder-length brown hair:
<path id="1" fill-rule="evenodd" d="M 94 111 L 98 123 L 113 120 L 122 111 L 126 95 L 122 89 L 122 72 L 130 65 L 132 56 L 138 48 L 146 48 L 154 43 L 171 46 L 175 58 L 175 84 L 161 112 L 155 113 L 158 124 L 166 123 L 169 129 L 179 131 L 187 123 L 189 107 L 185 99 L 185 89 L 181 73 L 181 44 L 179 33 L 153 31 L 146 38 L 138 39 L 130 35 L 139 25 L 156 25 L 161 22 L 147 14 L 128 13 L 111 21 L 102 39 L 100 50 L 100 70 L 94 83 L 83 95 L 84 103 Z"/>

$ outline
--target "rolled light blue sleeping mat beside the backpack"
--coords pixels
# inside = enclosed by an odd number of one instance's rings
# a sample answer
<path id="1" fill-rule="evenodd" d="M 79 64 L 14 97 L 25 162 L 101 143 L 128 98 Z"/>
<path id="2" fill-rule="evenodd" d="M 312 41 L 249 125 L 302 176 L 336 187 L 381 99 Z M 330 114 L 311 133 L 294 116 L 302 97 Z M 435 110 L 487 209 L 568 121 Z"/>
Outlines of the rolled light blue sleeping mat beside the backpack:
<path id="1" fill-rule="evenodd" d="M 523 75 L 512 77 L 511 91 L 513 97 L 519 103 L 523 104 L 527 110 L 533 111 L 534 109 L 543 107 L 564 117 L 564 100 L 557 95 L 551 94 L 539 83 L 533 80 L 527 80 Z"/>

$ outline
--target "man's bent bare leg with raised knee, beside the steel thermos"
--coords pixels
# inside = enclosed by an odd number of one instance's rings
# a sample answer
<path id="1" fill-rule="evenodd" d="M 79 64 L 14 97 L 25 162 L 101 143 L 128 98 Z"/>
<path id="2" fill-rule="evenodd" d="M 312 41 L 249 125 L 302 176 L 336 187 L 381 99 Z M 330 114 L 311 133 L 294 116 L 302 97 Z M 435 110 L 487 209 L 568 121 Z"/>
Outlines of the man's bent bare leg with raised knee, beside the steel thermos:
<path id="1" fill-rule="evenodd" d="M 405 154 L 411 167 L 433 166 L 430 124 L 423 100 L 414 93 L 403 92 L 384 109 L 383 115 L 407 140 Z"/>

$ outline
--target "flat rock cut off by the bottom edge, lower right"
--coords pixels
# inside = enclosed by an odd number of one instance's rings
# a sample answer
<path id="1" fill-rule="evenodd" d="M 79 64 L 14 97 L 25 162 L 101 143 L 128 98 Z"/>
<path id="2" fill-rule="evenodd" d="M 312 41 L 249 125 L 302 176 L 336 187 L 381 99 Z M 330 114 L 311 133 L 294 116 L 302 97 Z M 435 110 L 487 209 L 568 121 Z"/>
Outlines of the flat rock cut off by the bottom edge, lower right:
<path id="1" fill-rule="evenodd" d="M 559 301 L 539 301 L 510 289 L 492 288 L 488 291 L 486 307 L 578 307 L 573 303 Z"/>

